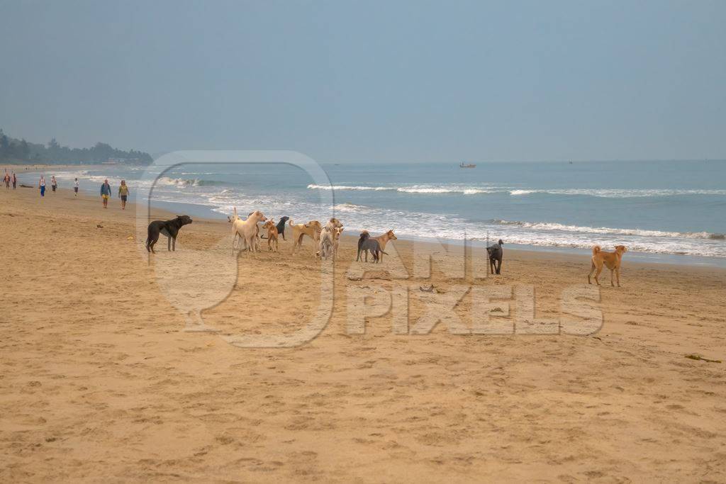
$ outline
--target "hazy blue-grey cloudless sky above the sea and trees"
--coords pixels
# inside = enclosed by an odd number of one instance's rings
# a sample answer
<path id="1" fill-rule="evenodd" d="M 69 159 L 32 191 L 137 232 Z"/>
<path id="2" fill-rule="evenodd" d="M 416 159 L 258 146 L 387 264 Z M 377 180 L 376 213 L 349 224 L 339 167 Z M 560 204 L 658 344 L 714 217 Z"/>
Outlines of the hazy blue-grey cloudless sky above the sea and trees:
<path id="1" fill-rule="evenodd" d="M 726 157 L 726 1 L 0 0 L 0 128 L 319 161 Z"/>

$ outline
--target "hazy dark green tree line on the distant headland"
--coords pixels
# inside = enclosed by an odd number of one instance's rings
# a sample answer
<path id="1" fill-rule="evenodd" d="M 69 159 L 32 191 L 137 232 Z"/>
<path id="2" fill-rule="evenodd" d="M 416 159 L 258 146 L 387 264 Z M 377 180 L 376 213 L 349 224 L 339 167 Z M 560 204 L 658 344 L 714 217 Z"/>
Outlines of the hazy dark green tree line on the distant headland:
<path id="1" fill-rule="evenodd" d="M 109 160 L 143 165 L 153 161 L 151 155 L 136 149 L 124 151 L 107 143 L 96 143 L 90 148 L 69 148 L 61 146 L 55 138 L 48 144 L 30 143 L 11 138 L 0 129 L 0 162 L 103 163 Z"/>

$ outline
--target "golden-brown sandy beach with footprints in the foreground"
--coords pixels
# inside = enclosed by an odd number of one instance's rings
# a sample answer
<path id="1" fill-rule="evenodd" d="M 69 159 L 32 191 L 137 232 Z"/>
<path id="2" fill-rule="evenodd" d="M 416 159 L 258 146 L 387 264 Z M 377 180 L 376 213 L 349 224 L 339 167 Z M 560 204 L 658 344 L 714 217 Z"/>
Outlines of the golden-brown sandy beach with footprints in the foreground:
<path id="1" fill-rule="evenodd" d="M 348 335 L 348 287 L 376 298 L 404 284 L 348 279 L 348 238 L 319 337 L 237 348 L 224 335 L 291 333 L 313 315 L 309 242 L 295 256 L 289 239 L 280 253 L 239 255 L 229 297 L 203 312 L 221 332 L 187 332 L 169 300 L 195 300 L 214 274 L 227 284 L 229 224 L 184 227 L 176 253 L 162 237 L 147 264 L 135 215 L 115 198 L 102 210 L 67 190 L 0 189 L 0 480 L 726 481 L 726 364 L 685 358 L 726 359 L 726 271 L 626 255 L 624 287 L 603 274 L 603 327 L 587 337 L 446 324 L 400 335 L 390 315 Z M 411 244 L 395 247 L 410 268 Z M 200 279 L 174 281 L 163 268 L 175 261 Z M 588 269 L 587 258 L 506 250 L 502 276 L 411 283 L 443 295 L 534 286 L 537 316 L 552 318 Z M 420 298 L 436 297 L 418 292 L 413 322 Z"/>

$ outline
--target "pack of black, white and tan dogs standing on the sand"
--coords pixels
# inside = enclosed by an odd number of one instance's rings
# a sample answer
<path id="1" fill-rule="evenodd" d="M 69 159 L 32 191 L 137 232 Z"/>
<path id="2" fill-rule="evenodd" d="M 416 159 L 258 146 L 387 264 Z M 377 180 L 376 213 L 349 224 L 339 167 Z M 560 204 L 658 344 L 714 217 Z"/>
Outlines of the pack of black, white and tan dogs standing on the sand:
<path id="1" fill-rule="evenodd" d="M 235 251 L 261 252 L 260 239 L 267 239 L 267 250 L 269 252 L 279 251 L 279 239 L 285 238 L 285 229 L 289 226 L 289 230 L 293 233 L 293 255 L 302 249 L 303 239 L 307 236 L 313 242 L 312 254 L 316 259 L 327 261 L 338 256 L 338 245 L 340 243 L 340 235 L 343 234 L 343 223 L 338 218 L 330 218 L 325 225 L 317 220 L 311 220 L 306 223 L 295 223 L 290 217 L 284 216 L 277 223 L 268 219 L 260 210 L 253 210 L 248 213 L 247 218 L 242 219 L 237 215 L 237 208 L 234 208 L 232 216 L 227 217 L 227 221 L 232 223 L 232 253 Z M 176 237 L 179 236 L 179 230 L 185 225 L 192 223 L 192 218 L 186 215 L 176 216 L 167 221 L 155 220 L 149 223 L 148 237 L 146 239 L 146 249 L 150 253 L 155 253 L 154 245 L 159 240 L 160 235 L 168 237 L 167 250 L 173 252 L 176 250 Z M 261 229 L 264 232 L 260 234 Z M 371 237 L 367 230 L 362 231 L 358 238 L 358 253 L 356 261 L 368 262 L 368 254 L 370 253 L 372 263 L 382 263 L 383 255 L 388 255 L 386 245 L 391 240 L 396 240 L 396 234 L 393 230 L 387 231 L 385 234 L 377 237 Z M 496 244 L 486 247 L 487 258 L 489 259 L 490 274 L 502 274 L 502 260 L 504 259 L 504 242 L 502 239 Z M 605 252 L 600 245 L 592 247 L 592 258 L 590 259 L 590 273 L 587 274 L 587 283 L 600 285 L 600 273 L 603 267 L 610 270 L 610 284 L 620 287 L 620 266 L 623 254 L 627 252 L 624 245 L 616 245 L 614 252 Z M 595 277 L 592 277 L 592 274 Z M 614 280 L 613 280 L 614 276 Z"/>

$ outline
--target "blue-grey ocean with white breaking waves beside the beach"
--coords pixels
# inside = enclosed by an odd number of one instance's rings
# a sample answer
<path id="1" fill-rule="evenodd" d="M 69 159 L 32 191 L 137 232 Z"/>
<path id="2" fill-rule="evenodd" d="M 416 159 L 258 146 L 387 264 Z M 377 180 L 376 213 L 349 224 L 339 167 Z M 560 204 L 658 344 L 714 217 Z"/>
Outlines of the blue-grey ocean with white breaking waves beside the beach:
<path id="1" fill-rule="evenodd" d="M 393 229 L 399 237 L 468 239 L 505 247 L 589 253 L 626 245 L 629 257 L 725 265 L 726 162 L 325 163 L 330 185 L 290 165 L 181 165 L 155 184 L 152 203 L 192 216 L 262 210 L 275 219 L 320 218 L 319 191 L 333 190 L 349 233 Z M 83 192 L 126 179 L 131 201 L 144 168 L 63 169 Z M 37 174 L 21 174 L 36 183 Z"/>

